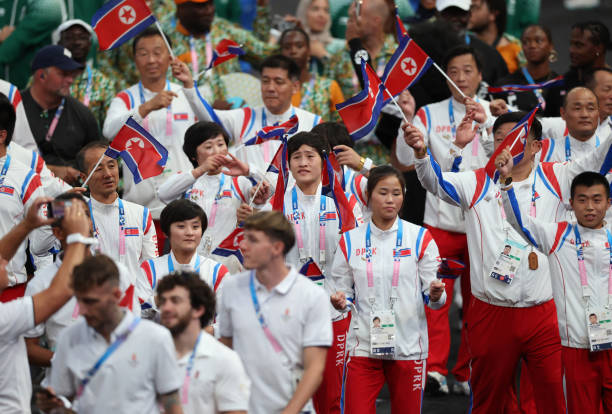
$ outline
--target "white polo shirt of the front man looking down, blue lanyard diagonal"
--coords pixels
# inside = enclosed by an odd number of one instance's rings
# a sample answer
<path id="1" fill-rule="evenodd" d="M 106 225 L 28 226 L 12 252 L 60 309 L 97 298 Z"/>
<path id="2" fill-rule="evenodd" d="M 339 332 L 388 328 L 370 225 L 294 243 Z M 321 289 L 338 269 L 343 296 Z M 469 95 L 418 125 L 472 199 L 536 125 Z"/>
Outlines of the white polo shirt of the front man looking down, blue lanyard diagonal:
<path id="1" fill-rule="evenodd" d="M 133 319 L 125 313 L 110 343 L 126 332 Z M 64 329 L 51 360 L 49 386 L 59 395 L 75 396 L 109 345 L 83 318 Z M 159 413 L 157 395 L 176 391 L 182 383 L 170 332 L 143 319 L 91 378 L 74 409 L 92 414 Z"/>

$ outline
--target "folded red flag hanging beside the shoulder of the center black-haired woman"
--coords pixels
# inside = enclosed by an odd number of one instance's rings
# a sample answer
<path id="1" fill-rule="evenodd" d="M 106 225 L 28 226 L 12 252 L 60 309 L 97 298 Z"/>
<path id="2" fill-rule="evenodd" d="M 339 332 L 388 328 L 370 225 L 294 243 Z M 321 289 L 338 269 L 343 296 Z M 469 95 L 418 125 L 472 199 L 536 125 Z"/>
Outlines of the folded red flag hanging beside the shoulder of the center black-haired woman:
<path id="1" fill-rule="evenodd" d="M 355 228 L 355 215 L 353 209 L 346 198 L 342 183 L 344 182 L 344 171 L 342 166 L 336 161 L 333 153 L 325 155 L 323 160 L 323 172 L 321 177 L 322 195 L 331 197 L 336 204 L 340 233 L 344 233 Z"/>

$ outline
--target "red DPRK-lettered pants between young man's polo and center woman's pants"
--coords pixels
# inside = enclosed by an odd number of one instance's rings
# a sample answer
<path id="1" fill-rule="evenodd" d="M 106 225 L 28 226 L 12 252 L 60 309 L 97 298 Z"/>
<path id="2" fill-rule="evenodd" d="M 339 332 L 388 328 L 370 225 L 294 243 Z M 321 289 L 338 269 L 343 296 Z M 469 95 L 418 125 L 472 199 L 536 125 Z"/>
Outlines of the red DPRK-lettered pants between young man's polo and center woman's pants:
<path id="1" fill-rule="evenodd" d="M 334 342 L 327 351 L 323 381 L 312 396 L 317 414 L 340 414 L 340 396 L 342 395 L 342 374 L 344 369 L 346 335 L 351 323 L 348 317 L 334 321 Z M 346 411 L 348 413 L 348 411 Z"/>

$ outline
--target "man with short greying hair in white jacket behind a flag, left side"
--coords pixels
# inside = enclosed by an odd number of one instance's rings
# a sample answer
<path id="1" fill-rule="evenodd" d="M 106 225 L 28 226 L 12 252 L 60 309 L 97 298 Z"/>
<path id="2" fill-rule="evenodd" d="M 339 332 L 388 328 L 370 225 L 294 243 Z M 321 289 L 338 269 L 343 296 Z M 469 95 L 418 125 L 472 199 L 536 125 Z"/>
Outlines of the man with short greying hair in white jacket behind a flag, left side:
<path id="1" fill-rule="evenodd" d="M 102 157 L 88 183 L 94 234 L 100 251 L 127 267 L 138 286 L 140 263 L 157 257 L 155 226 L 147 207 L 119 198 L 119 164 L 104 155 L 107 148 L 104 141 L 86 145 L 76 156 L 77 166 L 85 180 Z"/>

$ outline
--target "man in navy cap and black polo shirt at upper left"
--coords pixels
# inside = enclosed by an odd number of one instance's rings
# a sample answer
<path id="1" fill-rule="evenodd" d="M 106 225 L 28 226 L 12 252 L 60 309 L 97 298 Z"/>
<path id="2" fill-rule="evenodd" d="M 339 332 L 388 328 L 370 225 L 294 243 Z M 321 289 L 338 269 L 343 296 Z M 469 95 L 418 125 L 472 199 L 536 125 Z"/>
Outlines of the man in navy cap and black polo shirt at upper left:
<path id="1" fill-rule="evenodd" d="M 32 61 L 32 86 L 22 94 L 25 113 L 38 149 L 53 173 L 76 184 L 75 155 L 88 142 L 100 139 L 91 111 L 70 96 L 70 87 L 83 65 L 59 45 L 45 46 Z M 19 142 L 19 137 L 15 137 Z"/>

